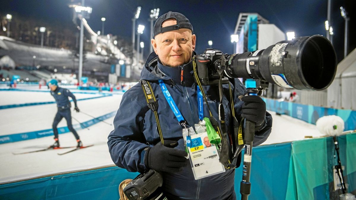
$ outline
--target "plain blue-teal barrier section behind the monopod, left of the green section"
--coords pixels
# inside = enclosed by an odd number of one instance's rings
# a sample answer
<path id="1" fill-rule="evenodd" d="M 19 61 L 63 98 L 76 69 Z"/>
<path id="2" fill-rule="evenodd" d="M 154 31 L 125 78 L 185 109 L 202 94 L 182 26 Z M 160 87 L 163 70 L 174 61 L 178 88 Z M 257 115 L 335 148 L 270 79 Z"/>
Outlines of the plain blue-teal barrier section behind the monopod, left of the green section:
<path id="1" fill-rule="evenodd" d="M 291 143 L 252 148 L 251 194 L 248 199 L 286 199 Z M 242 151 L 242 157 L 244 151 Z M 235 169 L 235 193 L 241 199 L 242 165 Z"/>

